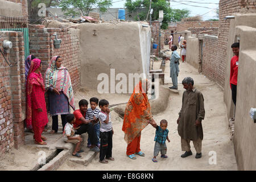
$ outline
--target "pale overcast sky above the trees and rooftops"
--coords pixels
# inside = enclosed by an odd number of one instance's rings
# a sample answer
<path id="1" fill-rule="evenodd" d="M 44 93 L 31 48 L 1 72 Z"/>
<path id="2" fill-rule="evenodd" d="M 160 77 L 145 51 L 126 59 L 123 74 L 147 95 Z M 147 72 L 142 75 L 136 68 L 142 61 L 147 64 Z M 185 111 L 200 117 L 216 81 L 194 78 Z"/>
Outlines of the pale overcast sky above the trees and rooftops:
<path id="1" fill-rule="evenodd" d="M 170 0 L 173 9 L 188 9 L 191 16 L 203 15 L 203 20 L 216 19 L 219 0 Z M 113 0 L 115 8 L 123 8 L 125 0 Z M 186 4 L 186 5 L 184 5 Z M 201 7 L 196 7 L 201 6 Z"/>

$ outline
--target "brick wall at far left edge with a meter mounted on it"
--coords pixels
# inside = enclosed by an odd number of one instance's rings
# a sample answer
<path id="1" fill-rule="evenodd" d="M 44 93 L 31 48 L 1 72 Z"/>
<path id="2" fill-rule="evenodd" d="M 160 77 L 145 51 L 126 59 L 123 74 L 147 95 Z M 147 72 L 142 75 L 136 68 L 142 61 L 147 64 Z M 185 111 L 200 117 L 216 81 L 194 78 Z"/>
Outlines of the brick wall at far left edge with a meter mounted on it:
<path id="1" fill-rule="evenodd" d="M 0 155 L 13 146 L 24 143 L 24 122 L 22 122 L 22 76 L 24 72 L 24 41 L 22 32 L 0 31 L 0 48 L 3 40 L 10 40 L 13 48 L 5 54 L 13 64 L 10 68 L 0 55 Z M 23 45 L 23 47 L 22 47 Z M 3 49 L 2 49 L 3 50 Z"/>

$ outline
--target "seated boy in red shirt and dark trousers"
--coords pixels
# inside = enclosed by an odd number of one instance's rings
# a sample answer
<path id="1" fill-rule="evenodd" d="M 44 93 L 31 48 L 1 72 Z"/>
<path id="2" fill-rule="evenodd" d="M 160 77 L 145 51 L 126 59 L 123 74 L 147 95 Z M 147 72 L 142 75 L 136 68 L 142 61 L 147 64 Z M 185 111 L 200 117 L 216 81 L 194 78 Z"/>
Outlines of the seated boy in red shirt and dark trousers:
<path id="1" fill-rule="evenodd" d="M 76 118 L 76 121 L 73 123 L 73 127 L 76 130 L 75 134 L 81 135 L 87 132 L 88 138 L 92 143 L 90 150 L 94 152 L 100 152 L 100 149 L 96 147 L 96 133 L 91 123 L 92 120 L 90 120 L 89 118 L 85 119 L 87 108 L 88 108 L 88 101 L 86 101 L 85 99 L 82 99 L 81 101 L 79 101 L 79 109 L 73 112 Z"/>

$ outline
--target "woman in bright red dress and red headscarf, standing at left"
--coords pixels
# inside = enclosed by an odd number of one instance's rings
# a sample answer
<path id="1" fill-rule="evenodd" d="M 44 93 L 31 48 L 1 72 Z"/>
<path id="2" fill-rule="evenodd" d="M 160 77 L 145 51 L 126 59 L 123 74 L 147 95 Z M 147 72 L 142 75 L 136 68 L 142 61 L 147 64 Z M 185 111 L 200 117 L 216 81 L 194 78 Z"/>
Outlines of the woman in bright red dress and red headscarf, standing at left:
<path id="1" fill-rule="evenodd" d="M 27 77 L 27 126 L 32 125 L 34 139 L 37 144 L 46 144 L 41 134 L 48 123 L 46 100 L 44 99 L 44 80 L 40 73 L 42 66 L 40 59 L 31 61 Z"/>

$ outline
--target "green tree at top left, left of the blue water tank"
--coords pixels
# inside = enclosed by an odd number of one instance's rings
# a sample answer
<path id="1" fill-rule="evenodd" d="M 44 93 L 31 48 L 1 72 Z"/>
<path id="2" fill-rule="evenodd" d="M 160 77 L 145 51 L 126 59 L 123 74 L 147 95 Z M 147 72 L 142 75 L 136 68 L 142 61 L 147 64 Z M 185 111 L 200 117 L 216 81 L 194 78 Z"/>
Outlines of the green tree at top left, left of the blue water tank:
<path id="1" fill-rule="evenodd" d="M 65 15 L 85 15 L 93 9 L 100 9 L 106 12 L 108 7 L 112 5 L 112 0 L 61 0 L 59 6 Z"/>

